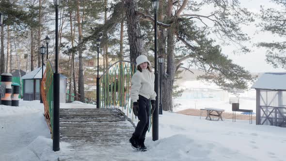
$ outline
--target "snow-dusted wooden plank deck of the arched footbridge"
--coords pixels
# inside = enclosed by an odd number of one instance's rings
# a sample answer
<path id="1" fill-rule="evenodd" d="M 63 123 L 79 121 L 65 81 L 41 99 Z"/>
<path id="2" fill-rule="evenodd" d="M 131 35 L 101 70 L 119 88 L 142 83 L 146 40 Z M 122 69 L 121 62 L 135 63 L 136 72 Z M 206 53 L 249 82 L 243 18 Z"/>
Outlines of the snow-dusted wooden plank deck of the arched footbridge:
<path id="1" fill-rule="evenodd" d="M 130 147 L 129 138 L 135 125 L 119 109 L 60 109 L 61 142 L 68 143 L 60 151 L 60 161 L 84 161 L 84 149 Z M 81 152 L 80 152 L 81 151 Z"/>

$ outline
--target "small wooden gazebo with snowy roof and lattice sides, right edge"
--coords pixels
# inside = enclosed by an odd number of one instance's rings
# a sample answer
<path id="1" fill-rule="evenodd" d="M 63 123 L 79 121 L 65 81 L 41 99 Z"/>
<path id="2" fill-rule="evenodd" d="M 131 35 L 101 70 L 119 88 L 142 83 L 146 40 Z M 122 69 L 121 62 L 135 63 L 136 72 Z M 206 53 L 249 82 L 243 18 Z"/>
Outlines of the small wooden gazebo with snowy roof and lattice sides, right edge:
<path id="1" fill-rule="evenodd" d="M 286 73 L 264 73 L 256 90 L 256 125 L 286 127 Z"/>

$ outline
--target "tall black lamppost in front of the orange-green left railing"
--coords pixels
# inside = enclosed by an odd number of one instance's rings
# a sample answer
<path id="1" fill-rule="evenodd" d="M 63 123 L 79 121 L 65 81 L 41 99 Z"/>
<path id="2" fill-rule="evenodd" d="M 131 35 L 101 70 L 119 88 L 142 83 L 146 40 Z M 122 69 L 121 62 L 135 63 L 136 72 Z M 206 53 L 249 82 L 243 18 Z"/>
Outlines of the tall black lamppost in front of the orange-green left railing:
<path id="1" fill-rule="evenodd" d="M 53 151 L 60 150 L 60 74 L 58 73 L 58 39 L 59 39 L 59 5 L 60 0 L 54 0 L 56 9 L 56 45 L 54 73 L 54 111 L 53 111 Z"/>

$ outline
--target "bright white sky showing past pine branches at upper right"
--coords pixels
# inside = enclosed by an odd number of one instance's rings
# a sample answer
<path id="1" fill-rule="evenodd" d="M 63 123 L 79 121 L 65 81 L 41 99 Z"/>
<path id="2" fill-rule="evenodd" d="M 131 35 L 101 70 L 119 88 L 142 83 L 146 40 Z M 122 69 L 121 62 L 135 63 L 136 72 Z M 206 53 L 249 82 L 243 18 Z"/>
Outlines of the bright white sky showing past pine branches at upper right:
<path id="1" fill-rule="evenodd" d="M 267 6 L 270 8 L 281 8 L 274 4 L 270 0 L 240 0 L 241 6 L 247 8 L 249 11 L 258 14 L 260 13 L 260 6 Z M 204 8 L 202 13 L 209 13 L 207 8 Z M 285 72 L 285 69 L 275 69 L 271 64 L 267 64 L 266 60 L 266 48 L 257 48 L 254 44 L 258 42 L 272 42 L 276 40 L 282 40 L 280 37 L 271 34 L 270 32 L 261 32 L 260 28 L 256 27 L 260 20 L 258 16 L 254 16 L 255 22 L 244 26 L 241 30 L 247 33 L 251 37 L 251 42 L 247 43 L 252 51 L 247 54 L 233 53 L 236 50 L 235 45 L 222 46 L 222 53 L 227 55 L 229 59 L 232 59 L 235 64 L 245 67 L 250 72 Z M 215 37 L 214 37 L 215 38 Z"/>

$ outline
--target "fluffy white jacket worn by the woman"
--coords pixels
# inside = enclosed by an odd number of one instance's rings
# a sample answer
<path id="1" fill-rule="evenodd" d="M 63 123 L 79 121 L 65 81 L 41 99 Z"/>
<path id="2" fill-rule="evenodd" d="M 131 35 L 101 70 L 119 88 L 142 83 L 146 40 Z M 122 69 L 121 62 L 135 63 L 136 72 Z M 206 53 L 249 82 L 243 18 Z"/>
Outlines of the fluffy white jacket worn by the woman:
<path id="1" fill-rule="evenodd" d="M 155 74 L 153 72 L 149 72 L 148 69 L 143 69 L 142 72 L 137 70 L 136 73 L 134 73 L 131 82 L 130 93 L 132 102 L 137 102 L 139 99 L 138 95 L 155 100 L 157 95 L 154 91 Z"/>

